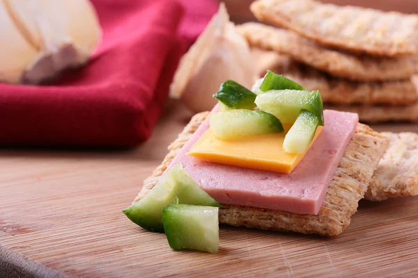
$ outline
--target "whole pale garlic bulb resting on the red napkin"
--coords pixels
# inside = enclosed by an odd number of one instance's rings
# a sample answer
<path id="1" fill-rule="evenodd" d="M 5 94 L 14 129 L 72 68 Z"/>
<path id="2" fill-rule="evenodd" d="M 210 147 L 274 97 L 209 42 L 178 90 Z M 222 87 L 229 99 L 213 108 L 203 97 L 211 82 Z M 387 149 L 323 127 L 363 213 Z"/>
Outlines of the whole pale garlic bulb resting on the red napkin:
<path id="1" fill-rule="evenodd" d="M 40 83 L 86 63 L 101 29 L 88 0 L 0 1 L 0 81 Z"/>

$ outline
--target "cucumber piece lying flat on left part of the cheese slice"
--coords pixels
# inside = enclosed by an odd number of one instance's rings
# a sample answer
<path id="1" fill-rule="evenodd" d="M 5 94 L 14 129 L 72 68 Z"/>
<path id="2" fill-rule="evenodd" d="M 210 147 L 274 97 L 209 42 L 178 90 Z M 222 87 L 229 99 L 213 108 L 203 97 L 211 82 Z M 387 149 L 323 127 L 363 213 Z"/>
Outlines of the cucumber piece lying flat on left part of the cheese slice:
<path id="1" fill-rule="evenodd" d="M 259 110 L 236 109 L 210 115 L 210 128 L 222 140 L 284 131 L 281 122 Z"/>

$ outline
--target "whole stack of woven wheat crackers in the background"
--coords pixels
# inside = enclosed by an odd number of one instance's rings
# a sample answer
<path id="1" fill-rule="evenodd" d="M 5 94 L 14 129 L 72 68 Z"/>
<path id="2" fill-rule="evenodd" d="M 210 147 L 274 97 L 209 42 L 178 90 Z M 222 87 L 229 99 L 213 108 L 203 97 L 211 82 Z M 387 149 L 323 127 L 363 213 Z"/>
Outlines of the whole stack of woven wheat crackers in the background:
<path id="1" fill-rule="evenodd" d="M 363 122 L 418 122 L 417 15 L 313 0 L 258 0 L 251 10 L 281 28 L 247 23 L 238 31 L 252 47 L 286 54 L 277 71 L 320 90 L 327 108 Z"/>

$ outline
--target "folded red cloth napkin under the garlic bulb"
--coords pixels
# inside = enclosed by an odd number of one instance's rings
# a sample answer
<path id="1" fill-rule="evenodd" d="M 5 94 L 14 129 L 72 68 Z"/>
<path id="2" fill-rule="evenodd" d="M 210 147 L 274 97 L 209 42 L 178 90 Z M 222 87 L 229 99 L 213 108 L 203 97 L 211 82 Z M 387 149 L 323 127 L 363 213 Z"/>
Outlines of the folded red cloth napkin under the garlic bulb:
<path id="1" fill-rule="evenodd" d="M 0 145 L 132 147 L 159 117 L 185 48 L 215 0 L 94 0 L 103 40 L 53 85 L 0 83 Z M 179 28 L 180 26 L 180 28 Z"/>

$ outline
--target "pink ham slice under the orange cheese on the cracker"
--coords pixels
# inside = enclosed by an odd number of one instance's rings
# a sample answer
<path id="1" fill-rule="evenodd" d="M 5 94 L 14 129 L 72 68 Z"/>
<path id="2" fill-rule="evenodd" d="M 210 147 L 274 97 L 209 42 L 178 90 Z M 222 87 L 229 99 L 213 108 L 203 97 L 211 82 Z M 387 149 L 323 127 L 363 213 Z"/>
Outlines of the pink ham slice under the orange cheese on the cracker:
<path id="1" fill-rule="evenodd" d="M 201 161 L 186 153 L 209 127 L 208 118 L 173 159 L 217 202 L 271 208 L 300 214 L 318 214 L 327 188 L 348 142 L 355 132 L 358 115 L 324 111 L 320 136 L 291 174 Z"/>

